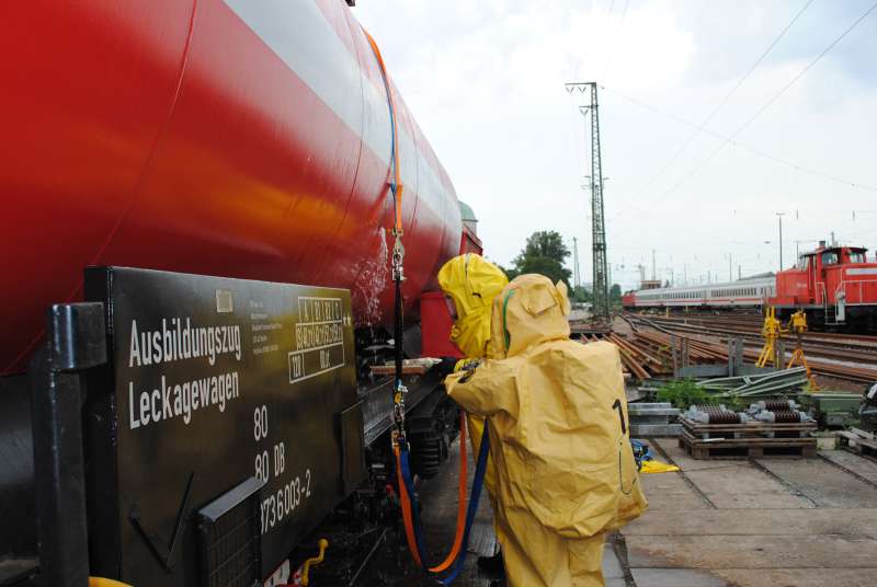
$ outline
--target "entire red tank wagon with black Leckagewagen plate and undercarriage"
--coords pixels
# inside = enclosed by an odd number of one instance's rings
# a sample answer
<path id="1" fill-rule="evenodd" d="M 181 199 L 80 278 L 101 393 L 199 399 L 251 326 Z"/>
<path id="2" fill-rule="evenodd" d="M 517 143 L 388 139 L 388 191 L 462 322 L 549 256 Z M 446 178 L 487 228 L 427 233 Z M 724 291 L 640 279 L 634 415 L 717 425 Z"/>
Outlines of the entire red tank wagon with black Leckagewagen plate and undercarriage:
<path id="1" fill-rule="evenodd" d="M 392 356 L 392 131 L 366 33 L 340 0 L 4 16 L 0 585 L 292 582 L 339 504 L 392 504 L 392 380 L 371 370 Z M 435 275 L 481 242 L 388 85 L 417 357 L 421 297 L 422 347 L 446 343 Z M 456 410 L 436 372 L 406 383 L 428 477 Z"/>

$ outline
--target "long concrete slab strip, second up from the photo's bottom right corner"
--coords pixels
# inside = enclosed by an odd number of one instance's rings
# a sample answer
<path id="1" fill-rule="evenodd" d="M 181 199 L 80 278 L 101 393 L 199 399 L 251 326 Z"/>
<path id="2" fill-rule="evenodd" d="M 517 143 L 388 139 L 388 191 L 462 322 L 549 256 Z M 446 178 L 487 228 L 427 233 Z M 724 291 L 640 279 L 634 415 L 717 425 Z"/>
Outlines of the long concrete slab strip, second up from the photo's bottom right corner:
<path id="1" fill-rule="evenodd" d="M 877 569 L 877 540 L 870 538 L 710 534 L 626 539 L 631 568 Z"/>

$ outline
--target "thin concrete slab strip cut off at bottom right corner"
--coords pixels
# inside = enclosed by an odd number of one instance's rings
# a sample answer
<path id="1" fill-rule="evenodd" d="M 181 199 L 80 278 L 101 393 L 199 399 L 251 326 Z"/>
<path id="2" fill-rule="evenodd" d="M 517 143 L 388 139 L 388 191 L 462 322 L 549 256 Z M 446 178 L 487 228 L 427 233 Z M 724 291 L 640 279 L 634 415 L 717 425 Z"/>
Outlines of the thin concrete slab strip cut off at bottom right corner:
<path id="1" fill-rule="evenodd" d="M 873 568 L 733 568 L 714 573 L 734 587 L 863 587 L 875 583 Z M 637 587 L 648 586 L 637 583 Z"/>

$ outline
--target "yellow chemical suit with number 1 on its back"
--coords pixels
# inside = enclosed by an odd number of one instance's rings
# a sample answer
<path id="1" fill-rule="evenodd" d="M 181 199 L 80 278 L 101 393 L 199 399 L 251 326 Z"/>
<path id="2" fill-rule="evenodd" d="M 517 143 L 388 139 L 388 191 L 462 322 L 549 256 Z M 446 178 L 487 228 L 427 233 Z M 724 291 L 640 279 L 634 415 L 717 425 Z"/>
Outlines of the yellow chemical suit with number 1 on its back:
<path id="1" fill-rule="evenodd" d="M 569 338 L 563 284 L 523 275 L 497 298 L 488 359 L 445 380 L 487 416 L 496 526 L 512 587 L 603 585 L 604 533 L 647 507 L 618 349 Z"/>

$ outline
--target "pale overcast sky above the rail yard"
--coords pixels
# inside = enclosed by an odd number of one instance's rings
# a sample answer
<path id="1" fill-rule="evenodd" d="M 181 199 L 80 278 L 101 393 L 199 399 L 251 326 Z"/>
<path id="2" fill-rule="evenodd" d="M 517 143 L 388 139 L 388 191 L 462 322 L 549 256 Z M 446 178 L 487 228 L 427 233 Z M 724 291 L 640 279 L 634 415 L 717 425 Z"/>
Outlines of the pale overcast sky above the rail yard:
<path id="1" fill-rule="evenodd" d="M 743 275 L 775 271 L 777 211 L 786 266 L 796 244 L 812 248 L 832 231 L 877 248 L 877 10 L 801 74 L 874 0 L 357 4 L 479 217 L 486 255 L 501 264 L 532 232 L 557 230 L 570 248 L 578 238 L 582 281 L 591 281 L 585 94 L 568 94 L 570 81 L 605 87 L 608 256 L 625 289 L 640 263 L 650 277 L 652 250 L 659 277 L 672 269 L 677 284 L 707 272 L 727 280 L 728 255 L 734 278 L 738 265 Z M 720 105 L 708 133 L 684 124 L 704 124 Z"/>

